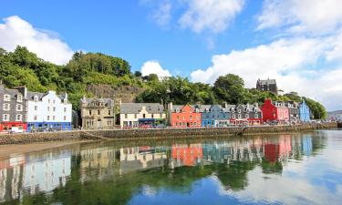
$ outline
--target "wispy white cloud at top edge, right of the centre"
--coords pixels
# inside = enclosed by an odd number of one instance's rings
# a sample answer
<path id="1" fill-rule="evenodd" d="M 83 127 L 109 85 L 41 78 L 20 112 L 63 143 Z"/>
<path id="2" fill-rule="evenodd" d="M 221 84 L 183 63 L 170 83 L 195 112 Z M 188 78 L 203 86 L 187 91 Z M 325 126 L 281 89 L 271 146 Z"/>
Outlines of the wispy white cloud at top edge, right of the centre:
<path id="1" fill-rule="evenodd" d="M 223 32 L 235 15 L 244 7 L 244 0 L 186 0 L 189 8 L 181 15 L 179 23 L 196 33 L 210 30 Z"/>

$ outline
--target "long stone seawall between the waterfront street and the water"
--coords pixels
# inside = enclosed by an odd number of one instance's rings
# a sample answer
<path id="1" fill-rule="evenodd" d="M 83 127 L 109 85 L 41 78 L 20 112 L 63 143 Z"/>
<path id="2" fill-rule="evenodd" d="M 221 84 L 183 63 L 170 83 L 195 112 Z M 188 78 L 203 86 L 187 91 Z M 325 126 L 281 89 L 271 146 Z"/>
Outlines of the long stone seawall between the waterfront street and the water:
<path id="1" fill-rule="evenodd" d="M 155 129 L 111 129 L 77 130 L 68 132 L 46 132 L 0 135 L 0 145 L 26 144 L 44 141 L 79 139 L 130 139 L 130 138 L 196 138 L 215 136 L 244 136 L 310 131 L 315 129 L 337 128 L 337 123 L 267 126 L 247 128 L 155 128 Z"/>

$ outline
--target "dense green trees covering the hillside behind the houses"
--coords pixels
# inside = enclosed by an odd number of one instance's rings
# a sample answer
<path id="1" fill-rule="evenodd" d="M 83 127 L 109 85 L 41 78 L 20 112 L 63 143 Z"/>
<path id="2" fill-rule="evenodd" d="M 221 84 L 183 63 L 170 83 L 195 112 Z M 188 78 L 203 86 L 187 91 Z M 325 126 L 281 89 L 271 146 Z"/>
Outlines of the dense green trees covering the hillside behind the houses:
<path id="1" fill-rule="evenodd" d="M 216 79 L 213 85 L 192 83 L 184 77 L 168 77 L 160 80 L 151 74 L 142 77 L 139 71 L 131 72 L 126 60 L 100 53 L 76 52 L 65 66 L 57 66 L 29 52 L 24 46 L 17 46 L 14 52 L 0 48 L 0 79 L 6 87 L 26 85 L 31 91 L 46 92 L 48 89 L 67 92 L 73 107 L 79 108 L 79 99 L 86 95 L 88 85 L 109 85 L 111 87 L 142 87 L 137 102 L 173 102 L 174 104 L 197 103 L 229 104 L 254 103 L 262 105 L 265 98 L 273 100 L 306 100 L 314 118 L 326 118 L 326 108 L 296 92 L 275 96 L 255 88 L 244 87 L 244 79 L 228 74 Z M 280 90 L 281 91 L 281 90 Z"/>

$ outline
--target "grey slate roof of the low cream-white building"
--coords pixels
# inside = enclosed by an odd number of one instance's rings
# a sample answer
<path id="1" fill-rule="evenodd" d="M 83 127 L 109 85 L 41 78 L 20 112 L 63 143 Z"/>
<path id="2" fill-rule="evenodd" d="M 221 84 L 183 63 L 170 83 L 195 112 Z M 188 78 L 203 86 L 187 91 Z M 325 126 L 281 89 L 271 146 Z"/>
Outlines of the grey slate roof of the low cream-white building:
<path id="1" fill-rule="evenodd" d="M 121 114 L 139 114 L 142 107 L 149 113 L 163 113 L 164 107 L 159 103 L 121 103 Z"/>

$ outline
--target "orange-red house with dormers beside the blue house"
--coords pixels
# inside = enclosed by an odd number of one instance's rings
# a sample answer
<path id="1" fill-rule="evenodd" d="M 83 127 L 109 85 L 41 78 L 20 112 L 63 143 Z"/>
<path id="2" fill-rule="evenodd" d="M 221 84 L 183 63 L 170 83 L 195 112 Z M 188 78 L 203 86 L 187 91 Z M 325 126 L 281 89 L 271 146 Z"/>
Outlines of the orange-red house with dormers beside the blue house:
<path id="1" fill-rule="evenodd" d="M 171 127 L 201 127 L 202 115 L 199 108 L 193 108 L 190 105 L 173 106 L 172 103 L 170 103 L 168 107 L 168 118 Z"/>

